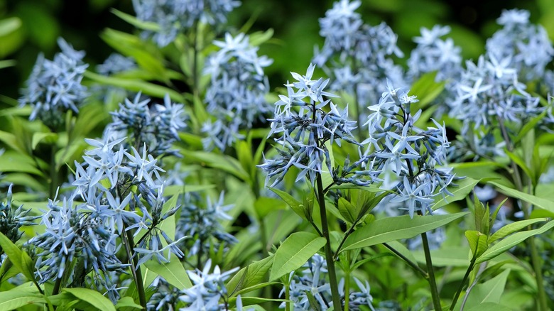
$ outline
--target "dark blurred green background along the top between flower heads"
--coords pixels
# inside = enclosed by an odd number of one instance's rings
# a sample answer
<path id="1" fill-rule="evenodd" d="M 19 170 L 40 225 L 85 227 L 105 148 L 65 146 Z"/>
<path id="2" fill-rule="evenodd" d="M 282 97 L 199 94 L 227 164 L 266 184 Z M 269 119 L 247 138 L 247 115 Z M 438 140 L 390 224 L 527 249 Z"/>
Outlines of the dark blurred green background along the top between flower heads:
<path id="1" fill-rule="evenodd" d="M 289 72 L 305 72 L 315 45 L 321 46 L 318 18 L 332 7 L 333 1 L 317 0 L 244 0 L 229 16 L 229 25 L 239 28 L 252 16 L 251 31 L 273 28 L 270 43 L 261 53 L 273 58 L 266 72 L 272 88 L 281 86 Z M 91 68 L 112 53 L 100 38 L 104 28 L 134 32 L 134 28 L 115 16 L 110 8 L 134 14 L 131 0 L 0 0 L 0 95 L 19 96 L 28 73 L 40 51 L 51 58 L 58 50 L 55 43 L 63 36 L 77 50 L 85 50 Z M 541 23 L 554 38 L 554 1 L 439 1 L 374 0 L 362 1 L 358 10 L 364 21 L 381 21 L 398 34 L 398 45 L 405 53 L 413 48 L 412 38 L 421 26 L 450 25 L 450 36 L 462 47 L 465 58 L 477 58 L 485 40 L 497 28 L 496 18 L 504 9 L 528 9 L 531 21 Z"/>

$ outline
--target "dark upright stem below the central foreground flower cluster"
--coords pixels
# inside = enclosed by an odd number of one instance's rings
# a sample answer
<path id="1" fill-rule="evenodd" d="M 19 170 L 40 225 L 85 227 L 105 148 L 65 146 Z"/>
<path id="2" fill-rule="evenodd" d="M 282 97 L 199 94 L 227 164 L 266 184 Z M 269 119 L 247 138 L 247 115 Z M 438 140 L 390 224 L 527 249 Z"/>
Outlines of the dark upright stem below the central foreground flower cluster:
<path id="1" fill-rule="evenodd" d="M 323 196 L 323 182 L 321 174 L 317 173 L 317 202 L 320 205 L 321 228 L 322 234 L 327 243 L 325 243 L 325 260 L 327 261 L 327 272 L 329 273 L 329 283 L 331 287 L 331 295 L 333 307 L 335 311 L 341 311 L 339 286 L 337 283 L 337 274 L 335 272 L 335 261 L 333 261 L 333 253 L 331 251 L 331 239 L 329 236 L 329 226 L 327 224 L 327 209 L 325 209 L 325 197 Z"/>

